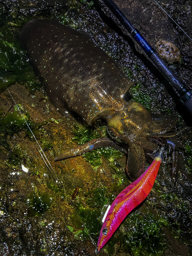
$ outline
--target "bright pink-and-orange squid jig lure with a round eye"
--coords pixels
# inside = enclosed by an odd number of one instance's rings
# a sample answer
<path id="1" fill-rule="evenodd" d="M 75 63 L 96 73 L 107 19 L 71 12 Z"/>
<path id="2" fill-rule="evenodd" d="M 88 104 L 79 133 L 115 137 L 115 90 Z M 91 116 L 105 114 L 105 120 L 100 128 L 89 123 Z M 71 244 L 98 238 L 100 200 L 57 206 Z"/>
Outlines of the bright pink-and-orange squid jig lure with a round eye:
<path id="1" fill-rule="evenodd" d="M 96 253 L 109 241 L 124 218 L 150 194 L 161 164 L 164 147 L 145 172 L 127 186 L 113 201 L 106 215 L 97 243 Z"/>

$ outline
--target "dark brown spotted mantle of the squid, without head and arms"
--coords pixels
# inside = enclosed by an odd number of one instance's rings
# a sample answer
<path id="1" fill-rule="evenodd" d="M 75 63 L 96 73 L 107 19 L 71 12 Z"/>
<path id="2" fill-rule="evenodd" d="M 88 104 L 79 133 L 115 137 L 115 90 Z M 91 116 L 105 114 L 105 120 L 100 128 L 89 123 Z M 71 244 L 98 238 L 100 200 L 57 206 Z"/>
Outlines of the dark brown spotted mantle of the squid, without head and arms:
<path id="1" fill-rule="evenodd" d="M 85 35 L 52 20 L 34 19 L 20 39 L 62 114 L 74 111 L 91 124 L 102 112 L 123 108 L 133 82 Z"/>

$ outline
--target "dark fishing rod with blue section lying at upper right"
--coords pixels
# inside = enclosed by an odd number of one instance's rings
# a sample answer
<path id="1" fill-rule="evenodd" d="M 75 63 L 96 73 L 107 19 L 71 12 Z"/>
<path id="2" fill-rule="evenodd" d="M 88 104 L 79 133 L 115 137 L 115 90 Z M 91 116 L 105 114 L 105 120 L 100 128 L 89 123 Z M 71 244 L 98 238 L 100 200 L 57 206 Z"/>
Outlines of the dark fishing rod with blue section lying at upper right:
<path id="1" fill-rule="evenodd" d="M 176 73 L 169 69 L 165 61 L 161 59 L 159 54 L 151 47 L 150 44 L 148 44 L 145 38 L 139 33 L 135 26 L 130 22 L 129 19 L 127 19 L 127 17 L 121 12 L 121 10 L 112 0 L 103 0 L 103 2 L 119 19 L 123 27 L 131 34 L 133 39 L 139 44 L 141 49 L 153 61 L 157 69 L 170 83 L 178 96 L 176 101 L 178 104 L 178 111 L 182 115 L 185 122 L 189 126 L 192 126 L 192 90 L 188 90 L 185 84 L 178 78 Z"/>

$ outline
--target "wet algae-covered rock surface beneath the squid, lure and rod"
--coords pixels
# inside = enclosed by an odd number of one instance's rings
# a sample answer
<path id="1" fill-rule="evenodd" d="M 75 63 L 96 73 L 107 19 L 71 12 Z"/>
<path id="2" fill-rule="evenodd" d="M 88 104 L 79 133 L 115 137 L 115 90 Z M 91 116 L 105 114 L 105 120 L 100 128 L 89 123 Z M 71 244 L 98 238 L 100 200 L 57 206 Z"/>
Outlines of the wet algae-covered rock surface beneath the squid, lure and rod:
<path id="1" fill-rule="evenodd" d="M 191 88 L 191 41 L 183 32 L 153 1 L 115 3 L 153 47 L 159 39 L 173 42 L 178 47 L 181 63 L 176 62 L 172 68 Z M 190 1 L 167 0 L 162 6 L 190 35 Z M 133 100 L 144 104 L 152 114 L 178 116 L 176 129 L 182 127 L 183 120 L 167 92 L 169 88 L 164 87 L 164 78 L 126 31 L 118 27 L 116 18 L 102 2 L 4 1 L 1 13 L 2 28 L 5 28 L 1 30 L 1 39 L 10 42 L 1 52 L 8 56 L 7 62 L 1 62 L 4 81 L 0 94 L 1 253 L 15 256 L 94 255 L 95 247 L 89 234 L 97 242 L 103 204 L 107 200 L 112 203 L 131 183 L 124 173 L 126 156 L 105 148 L 83 157 L 54 162 L 55 156 L 74 148 L 77 143 L 106 136 L 104 123 L 98 121 L 89 127 L 61 116 L 30 68 L 26 68 L 29 65 L 23 60 L 27 59 L 26 53 L 22 48 L 14 48 L 15 39 L 7 34 L 14 31 L 17 37 L 22 26 L 32 18 L 53 18 L 84 31 L 135 81 L 131 90 Z M 13 50 L 14 56 L 20 53 L 20 64 L 11 59 L 7 48 Z M 5 55 L 1 56 L 4 60 Z M 4 62 L 9 66 L 5 67 Z M 150 196 L 120 225 L 100 255 L 191 254 L 190 129 L 176 140 L 180 140 L 185 148 L 180 151 L 188 164 L 181 157 L 176 182 L 173 182 L 172 159 L 168 154 Z M 45 161 L 42 159 L 38 144 L 49 162 L 45 157 Z M 77 187 L 78 193 L 72 197 Z"/>

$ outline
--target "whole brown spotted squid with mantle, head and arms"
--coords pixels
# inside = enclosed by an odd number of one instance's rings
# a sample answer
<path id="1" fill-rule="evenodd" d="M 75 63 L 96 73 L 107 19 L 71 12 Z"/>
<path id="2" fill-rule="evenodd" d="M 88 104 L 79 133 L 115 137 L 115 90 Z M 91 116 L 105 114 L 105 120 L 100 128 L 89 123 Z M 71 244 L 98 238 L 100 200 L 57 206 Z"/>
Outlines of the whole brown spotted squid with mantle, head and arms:
<path id="1" fill-rule="evenodd" d="M 140 103 L 125 101 L 133 82 L 85 35 L 52 20 L 35 19 L 24 26 L 20 39 L 61 114 L 68 116 L 67 110 L 71 110 L 90 125 L 102 118 L 113 141 L 129 146 L 126 173 L 131 179 L 136 180 L 144 172 L 144 149 L 158 148 L 148 138 L 176 135 L 165 134 L 174 127 L 173 118 L 153 121 Z M 88 152 L 96 146 L 117 148 L 115 143 L 101 138 L 94 142 L 93 148 L 86 144 L 57 160 Z"/>

